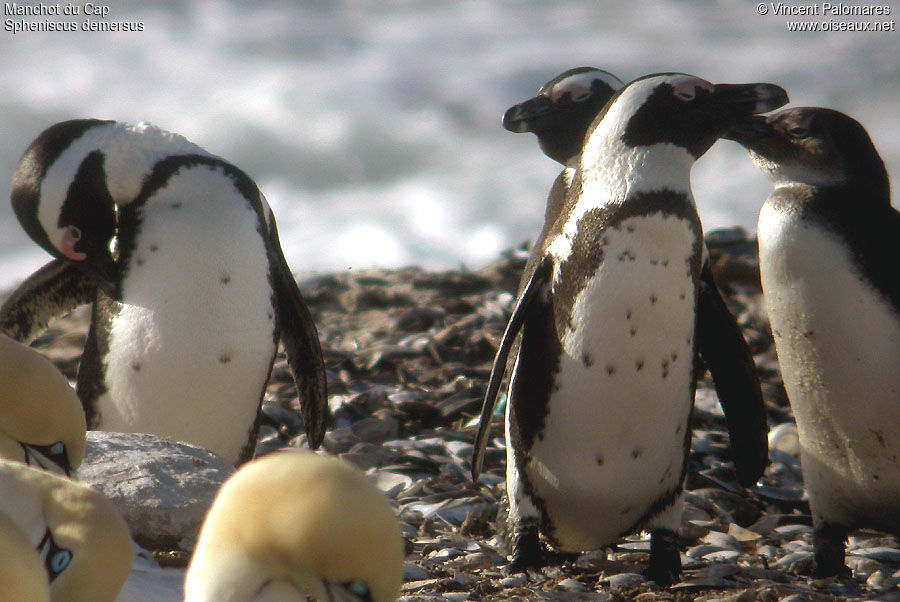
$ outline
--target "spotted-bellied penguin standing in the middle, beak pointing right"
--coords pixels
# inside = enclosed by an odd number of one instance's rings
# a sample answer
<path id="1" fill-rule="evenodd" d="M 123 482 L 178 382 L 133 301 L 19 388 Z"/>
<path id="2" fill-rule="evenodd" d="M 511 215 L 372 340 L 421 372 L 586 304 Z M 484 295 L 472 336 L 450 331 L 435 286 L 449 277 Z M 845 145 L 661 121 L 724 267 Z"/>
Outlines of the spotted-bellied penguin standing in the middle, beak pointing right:
<path id="1" fill-rule="evenodd" d="M 575 552 L 649 530 L 649 576 L 665 584 L 680 572 L 703 248 L 690 170 L 732 122 L 785 102 L 770 84 L 659 74 L 620 90 L 591 126 L 566 205 L 523 276 L 476 440 L 475 476 L 521 330 L 506 413 L 511 568 L 543 562 L 539 531 Z M 759 430 L 738 434 L 761 473 L 762 408 L 722 401 Z"/>

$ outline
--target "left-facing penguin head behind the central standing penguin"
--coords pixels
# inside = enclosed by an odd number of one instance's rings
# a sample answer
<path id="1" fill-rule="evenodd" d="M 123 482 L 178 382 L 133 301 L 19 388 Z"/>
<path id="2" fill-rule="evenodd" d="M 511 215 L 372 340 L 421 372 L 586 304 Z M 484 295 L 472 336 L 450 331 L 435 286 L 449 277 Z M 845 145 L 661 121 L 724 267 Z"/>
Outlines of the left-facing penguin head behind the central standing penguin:
<path id="1" fill-rule="evenodd" d="M 537 96 L 510 107 L 503 127 L 532 132 L 551 159 L 565 164 L 578 155 L 588 126 L 622 82 L 595 67 L 577 67 L 544 84 Z"/>

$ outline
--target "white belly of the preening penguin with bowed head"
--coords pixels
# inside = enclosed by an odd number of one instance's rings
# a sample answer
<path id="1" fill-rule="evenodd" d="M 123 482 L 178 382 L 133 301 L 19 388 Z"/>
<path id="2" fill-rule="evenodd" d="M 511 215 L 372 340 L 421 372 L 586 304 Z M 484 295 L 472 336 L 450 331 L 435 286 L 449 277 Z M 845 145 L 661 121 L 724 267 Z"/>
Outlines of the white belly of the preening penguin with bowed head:
<path id="1" fill-rule="evenodd" d="M 237 461 L 276 349 L 256 213 L 203 167 L 154 195 L 142 220 L 104 358 L 100 426 Z"/>

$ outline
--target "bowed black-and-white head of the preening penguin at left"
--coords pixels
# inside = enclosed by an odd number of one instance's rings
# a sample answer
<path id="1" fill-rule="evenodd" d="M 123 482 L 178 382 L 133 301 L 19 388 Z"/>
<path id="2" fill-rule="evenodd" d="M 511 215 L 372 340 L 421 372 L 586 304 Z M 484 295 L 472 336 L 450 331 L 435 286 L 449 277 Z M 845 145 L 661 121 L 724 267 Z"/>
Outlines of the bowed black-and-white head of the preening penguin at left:
<path id="1" fill-rule="evenodd" d="M 44 130 L 19 160 L 11 195 L 31 239 L 108 292 L 115 292 L 117 280 L 110 251 L 116 213 L 99 147 L 114 124 L 78 119 Z"/>

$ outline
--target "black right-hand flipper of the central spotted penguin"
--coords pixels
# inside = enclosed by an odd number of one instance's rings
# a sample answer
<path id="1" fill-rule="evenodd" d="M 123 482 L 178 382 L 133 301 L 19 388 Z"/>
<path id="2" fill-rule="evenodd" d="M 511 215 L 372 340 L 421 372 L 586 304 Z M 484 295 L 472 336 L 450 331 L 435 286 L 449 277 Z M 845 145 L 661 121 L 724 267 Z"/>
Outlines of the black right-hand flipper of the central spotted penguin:
<path id="1" fill-rule="evenodd" d="M 708 262 L 700 274 L 697 343 L 725 412 L 738 481 L 752 487 L 769 461 L 766 407 L 753 354 L 719 294 Z"/>

